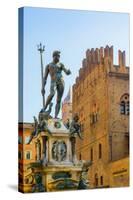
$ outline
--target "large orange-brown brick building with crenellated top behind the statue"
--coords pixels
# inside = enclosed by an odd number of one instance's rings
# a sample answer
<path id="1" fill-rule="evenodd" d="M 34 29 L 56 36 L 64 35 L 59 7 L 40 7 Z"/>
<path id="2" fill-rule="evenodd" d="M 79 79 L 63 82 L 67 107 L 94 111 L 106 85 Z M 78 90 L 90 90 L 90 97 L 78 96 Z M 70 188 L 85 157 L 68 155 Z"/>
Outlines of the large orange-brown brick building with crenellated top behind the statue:
<path id="1" fill-rule="evenodd" d="M 79 114 L 84 138 L 77 139 L 77 157 L 92 160 L 91 188 L 111 187 L 110 163 L 121 160 L 122 166 L 129 156 L 129 67 L 125 63 L 125 51 L 119 50 L 114 65 L 113 46 L 88 49 L 73 85 L 72 112 Z M 113 186 L 120 185 L 114 182 Z"/>

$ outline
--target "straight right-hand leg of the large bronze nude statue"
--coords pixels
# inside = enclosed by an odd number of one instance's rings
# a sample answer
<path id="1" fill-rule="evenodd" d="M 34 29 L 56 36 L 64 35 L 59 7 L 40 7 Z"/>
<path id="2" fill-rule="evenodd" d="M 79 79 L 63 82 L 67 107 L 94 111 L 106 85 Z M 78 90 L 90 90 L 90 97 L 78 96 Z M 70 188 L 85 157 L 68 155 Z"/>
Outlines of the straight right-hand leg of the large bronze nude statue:
<path id="1" fill-rule="evenodd" d="M 56 106 L 55 106 L 55 118 L 57 118 L 60 111 L 63 92 L 64 92 L 64 82 L 61 82 L 60 84 L 57 85 L 57 101 L 56 101 Z"/>

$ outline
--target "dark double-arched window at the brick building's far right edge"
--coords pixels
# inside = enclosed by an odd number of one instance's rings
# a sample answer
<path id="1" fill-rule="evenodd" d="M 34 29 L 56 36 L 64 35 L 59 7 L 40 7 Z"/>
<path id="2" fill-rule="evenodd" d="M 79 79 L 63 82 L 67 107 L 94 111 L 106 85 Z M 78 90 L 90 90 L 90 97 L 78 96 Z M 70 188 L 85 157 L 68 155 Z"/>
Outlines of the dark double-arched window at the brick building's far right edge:
<path id="1" fill-rule="evenodd" d="M 122 115 L 129 115 L 129 95 L 124 94 L 120 98 L 120 113 Z"/>

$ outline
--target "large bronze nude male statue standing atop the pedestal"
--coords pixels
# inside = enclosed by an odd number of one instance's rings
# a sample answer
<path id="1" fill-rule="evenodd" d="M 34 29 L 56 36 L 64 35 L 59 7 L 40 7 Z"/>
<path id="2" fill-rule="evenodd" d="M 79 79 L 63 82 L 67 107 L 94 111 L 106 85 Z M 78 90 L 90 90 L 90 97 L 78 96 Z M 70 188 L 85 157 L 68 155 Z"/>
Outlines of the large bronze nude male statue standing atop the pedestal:
<path id="1" fill-rule="evenodd" d="M 57 101 L 55 106 L 55 118 L 57 118 L 60 106 L 61 106 L 61 99 L 64 92 L 64 80 L 62 76 L 62 71 L 65 72 L 65 74 L 69 75 L 71 74 L 71 71 L 69 69 L 66 69 L 64 64 L 59 62 L 60 60 L 60 51 L 54 51 L 53 52 L 53 61 L 49 63 L 45 68 L 45 73 L 43 77 L 43 83 L 42 83 L 42 95 L 45 94 L 45 85 L 47 82 L 48 74 L 51 77 L 51 85 L 50 85 L 50 94 L 47 97 L 46 104 L 44 107 L 44 111 L 47 109 L 48 105 L 51 103 L 55 92 L 57 90 Z"/>

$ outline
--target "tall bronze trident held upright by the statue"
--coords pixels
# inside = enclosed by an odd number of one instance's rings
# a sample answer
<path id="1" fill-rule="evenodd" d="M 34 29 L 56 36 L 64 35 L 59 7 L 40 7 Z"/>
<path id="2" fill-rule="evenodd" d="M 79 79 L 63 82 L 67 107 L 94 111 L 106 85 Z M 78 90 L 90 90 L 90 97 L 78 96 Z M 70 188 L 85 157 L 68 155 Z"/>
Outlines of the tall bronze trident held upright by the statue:
<path id="1" fill-rule="evenodd" d="M 40 58 L 41 58 L 41 78 L 42 78 L 42 87 L 43 87 L 43 59 L 42 59 L 42 54 L 45 50 L 45 46 L 42 46 L 42 43 L 37 45 L 38 51 L 40 52 Z M 42 94 L 43 98 L 43 108 L 45 107 L 45 96 Z"/>

